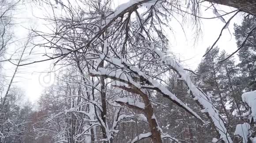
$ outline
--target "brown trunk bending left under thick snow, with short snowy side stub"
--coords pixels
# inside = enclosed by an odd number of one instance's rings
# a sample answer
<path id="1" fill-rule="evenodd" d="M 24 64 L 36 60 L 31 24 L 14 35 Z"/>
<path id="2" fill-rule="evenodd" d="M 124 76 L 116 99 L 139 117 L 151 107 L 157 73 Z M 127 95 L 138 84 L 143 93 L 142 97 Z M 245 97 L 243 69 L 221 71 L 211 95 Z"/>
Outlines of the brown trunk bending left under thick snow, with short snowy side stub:
<path id="1" fill-rule="evenodd" d="M 161 138 L 162 129 L 158 126 L 158 122 L 154 116 L 154 110 L 151 105 L 151 101 L 149 100 L 148 92 L 145 89 L 141 88 L 142 85 L 140 82 L 133 81 L 134 78 L 138 78 L 138 77 L 132 78 L 130 75 L 126 74 L 125 71 L 121 71 L 121 70 L 107 71 L 104 68 L 99 68 L 98 72 L 92 70 L 90 71 L 90 75 L 101 76 L 101 77 L 103 76 L 119 82 L 124 82 L 127 85 L 123 84 L 122 86 L 125 86 L 125 88 L 128 88 L 129 90 L 135 90 L 136 93 L 138 93 L 142 97 L 144 104 L 139 103 L 133 99 L 130 100 L 128 98 L 119 99 L 117 100 L 117 102 L 122 104 L 125 103 L 125 105 L 129 107 L 142 110 L 147 116 L 147 120 L 148 120 L 151 134 L 152 134 L 151 139 L 153 140 L 154 143 L 162 143 L 162 138 Z"/>

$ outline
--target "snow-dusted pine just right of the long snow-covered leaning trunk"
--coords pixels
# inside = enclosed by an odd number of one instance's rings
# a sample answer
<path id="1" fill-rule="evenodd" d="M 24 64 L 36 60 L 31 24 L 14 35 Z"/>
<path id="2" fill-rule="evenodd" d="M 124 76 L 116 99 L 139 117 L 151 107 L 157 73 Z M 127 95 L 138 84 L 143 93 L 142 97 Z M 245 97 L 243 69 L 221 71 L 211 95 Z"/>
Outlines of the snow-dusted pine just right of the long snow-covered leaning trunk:
<path id="1" fill-rule="evenodd" d="M 225 50 L 219 52 L 218 47 L 211 50 L 199 64 L 197 71 L 201 76 L 197 81 L 201 89 L 211 93 L 212 103 L 225 116 L 227 128 L 234 132 L 235 126 L 241 121 L 238 116 L 242 114 L 241 94 L 244 86 L 233 57 L 219 62 L 225 57 Z"/>

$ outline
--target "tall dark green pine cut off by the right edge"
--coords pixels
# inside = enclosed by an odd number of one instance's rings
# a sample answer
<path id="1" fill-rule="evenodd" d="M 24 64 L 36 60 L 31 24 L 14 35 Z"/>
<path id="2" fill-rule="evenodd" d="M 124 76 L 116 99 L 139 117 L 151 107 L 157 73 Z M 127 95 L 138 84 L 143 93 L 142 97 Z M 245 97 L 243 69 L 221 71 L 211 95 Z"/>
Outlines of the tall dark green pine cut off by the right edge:
<path id="1" fill-rule="evenodd" d="M 241 45 L 242 39 L 245 38 L 252 25 L 256 25 L 256 17 L 245 17 L 241 25 L 235 24 L 235 37 L 237 45 Z M 245 85 L 245 91 L 256 90 L 256 32 L 252 32 L 248 37 L 244 47 L 239 50 L 238 54 L 240 63 L 237 65 L 241 68 L 242 83 Z"/>

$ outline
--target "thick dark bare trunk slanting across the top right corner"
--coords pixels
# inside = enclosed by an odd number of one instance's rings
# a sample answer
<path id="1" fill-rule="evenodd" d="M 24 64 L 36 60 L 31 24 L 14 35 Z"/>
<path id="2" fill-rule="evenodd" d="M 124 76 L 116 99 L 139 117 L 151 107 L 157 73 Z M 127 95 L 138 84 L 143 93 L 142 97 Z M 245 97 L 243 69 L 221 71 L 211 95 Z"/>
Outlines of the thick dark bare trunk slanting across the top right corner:
<path id="1" fill-rule="evenodd" d="M 211 3 L 235 7 L 256 16 L 256 0 L 205 0 Z"/>

